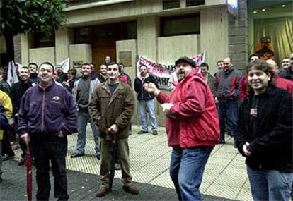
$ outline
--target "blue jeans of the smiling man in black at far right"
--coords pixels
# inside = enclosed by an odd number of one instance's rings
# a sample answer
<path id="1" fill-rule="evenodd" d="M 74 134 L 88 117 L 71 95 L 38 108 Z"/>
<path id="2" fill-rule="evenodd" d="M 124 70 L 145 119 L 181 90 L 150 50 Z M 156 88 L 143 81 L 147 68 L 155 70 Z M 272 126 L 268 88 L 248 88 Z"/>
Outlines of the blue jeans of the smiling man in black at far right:
<path id="1" fill-rule="evenodd" d="M 293 173 L 281 171 L 253 171 L 247 166 L 251 194 L 255 201 L 287 201 L 293 186 Z"/>

